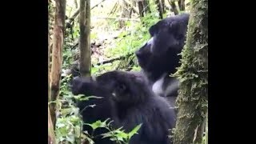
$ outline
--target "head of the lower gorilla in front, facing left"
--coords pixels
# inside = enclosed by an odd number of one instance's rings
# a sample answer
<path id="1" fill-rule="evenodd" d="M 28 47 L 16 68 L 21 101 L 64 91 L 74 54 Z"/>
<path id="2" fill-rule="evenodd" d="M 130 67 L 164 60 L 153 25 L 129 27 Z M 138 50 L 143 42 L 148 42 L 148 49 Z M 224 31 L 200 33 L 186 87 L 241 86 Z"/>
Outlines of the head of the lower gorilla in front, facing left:
<path id="1" fill-rule="evenodd" d="M 150 87 L 142 75 L 121 70 L 114 70 L 96 78 L 98 86 L 105 87 L 111 98 L 124 106 L 136 105 L 141 102 L 145 94 L 150 94 Z M 139 89 L 138 89 L 139 87 Z M 133 99 L 133 101 L 131 101 Z"/>

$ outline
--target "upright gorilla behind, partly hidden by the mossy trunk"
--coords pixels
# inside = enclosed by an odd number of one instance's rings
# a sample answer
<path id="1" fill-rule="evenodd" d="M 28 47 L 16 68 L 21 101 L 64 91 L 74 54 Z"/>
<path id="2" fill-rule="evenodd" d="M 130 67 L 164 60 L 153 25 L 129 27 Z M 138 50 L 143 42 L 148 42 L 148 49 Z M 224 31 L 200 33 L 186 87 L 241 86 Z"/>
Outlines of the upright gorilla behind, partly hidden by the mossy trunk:
<path id="1" fill-rule="evenodd" d="M 150 26 L 150 40 L 135 52 L 142 74 L 146 75 L 155 94 L 169 97 L 174 104 L 178 96 L 178 79 L 170 77 L 180 66 L 190 14 L 164 18 Z"/>

